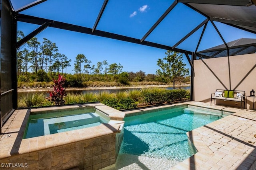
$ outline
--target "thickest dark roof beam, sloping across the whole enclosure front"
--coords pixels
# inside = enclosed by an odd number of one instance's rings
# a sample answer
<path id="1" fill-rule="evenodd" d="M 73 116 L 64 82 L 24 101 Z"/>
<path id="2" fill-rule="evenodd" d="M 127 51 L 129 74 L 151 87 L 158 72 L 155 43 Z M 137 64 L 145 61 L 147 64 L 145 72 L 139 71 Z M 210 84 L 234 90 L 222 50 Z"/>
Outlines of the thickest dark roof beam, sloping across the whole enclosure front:
<path id="1" fill-rule="evenodd" d="M 118 35 L 118 34 L 100 31 L 100 30 L 94 30 L 94 32 L 92 32 L 92 29 L 88 28 L 88 27 L 82 27 L 79 25 L 73 25 L 73 24 L 69 24 L 69 23 L 53 21 L 53 20 L 48 20 L 48 19 L 44 19 L 44 18 L 28 16 L 28 15 L 24 15 L 24 14 L 18 14 L 17 21 L 33 23 L 33 24 L 38 24 L 38 25 L 42 25 L 43 23 L 49 22 L 49 23 L 52 23 L 51 25 L 49 25 L 49 27 L 65 29 L 65 30 L 75 31 L 75 32 L 80 32 L 80 33 L 86 33 L 86 34 L 90 34 L 90 35 L 97 35 L 100 37 L 117 39 L 117 40 L 121 40 L 121 41 L 126 41 L 126 42 L 130 42 L 130 43 L 141 44 L 141 45 L 147 45 L 150 47 L 156 47 L 156 48 L 160 48 L 160 49 L 172 50 L 172 51 L 176 51 L 179 53 L 192 54 L 191 51 L 186 51 L 186 50 L 182 50 L 182 49 L 178 49 L 178 48 L 172 49 L 172 47 L 170 47 L 170 46 L 166 46 L 166 45 L 162 45 L 162 44 L 158 44 L 158 43 L 152 43 L 149 41 L 140 42 L 140 39 L 126 37 L 124 35 Z"/>

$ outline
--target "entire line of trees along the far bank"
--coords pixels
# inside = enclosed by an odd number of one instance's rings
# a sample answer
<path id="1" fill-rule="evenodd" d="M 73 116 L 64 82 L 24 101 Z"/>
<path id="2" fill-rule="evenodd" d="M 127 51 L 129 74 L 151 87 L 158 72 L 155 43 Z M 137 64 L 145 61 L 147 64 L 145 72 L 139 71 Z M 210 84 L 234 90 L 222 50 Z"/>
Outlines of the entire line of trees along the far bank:
<path id="1" fill-rule="evenodd" d="M 24 38 L 24 33 L 18 31 L 17 40 Z M 84 54 L 78 54 L 74 61 L 75 74 L 67 75 L 67 67 L 71 66 L 71 59 L 58 52 L 56 43 L 43 38 L 39 42 L 33 37 L 27 43 L 17 49 L 17 75 L 20 82 L 49 82 L 58 74 L 65 74 L 70 82 L 82 84 L 84 81 L 118 81 L 121 84 L 128 82 L 188 82 L 188 69 L 182 62 L 182 55 L 177 52 L 167 51 L 164 59 L 158 59 L 160 69 L 156 74 L 146 74 L 142 70 L 138 72 L 122 72 L 121 63 L 109 64 L 107 60 L 92 64 Z M 71 83 L 72 84 L 72 83 Z M 76 84 L 74 84 L 76 86 Z"/>

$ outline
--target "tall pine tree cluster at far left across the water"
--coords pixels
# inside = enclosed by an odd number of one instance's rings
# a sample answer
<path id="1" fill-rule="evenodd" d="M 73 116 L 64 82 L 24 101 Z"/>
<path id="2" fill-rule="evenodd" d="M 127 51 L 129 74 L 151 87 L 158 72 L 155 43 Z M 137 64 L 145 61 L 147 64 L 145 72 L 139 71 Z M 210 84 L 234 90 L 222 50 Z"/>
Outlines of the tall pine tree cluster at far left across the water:
<path id="1" fill-rule="evenodd" d="M 18 31 L 17 40 L 24 38 L 24 33 Z M 30 75 L 36 81 L 51 81 L 53 73 L 67 70 L 71 59 L 58 53 L 56 43 L 44 38 L 40 43 L 33 37 L 17 49 L 17 75 L 18 78 Z M 32 74 L 30 74 L 32 73 Z"/>

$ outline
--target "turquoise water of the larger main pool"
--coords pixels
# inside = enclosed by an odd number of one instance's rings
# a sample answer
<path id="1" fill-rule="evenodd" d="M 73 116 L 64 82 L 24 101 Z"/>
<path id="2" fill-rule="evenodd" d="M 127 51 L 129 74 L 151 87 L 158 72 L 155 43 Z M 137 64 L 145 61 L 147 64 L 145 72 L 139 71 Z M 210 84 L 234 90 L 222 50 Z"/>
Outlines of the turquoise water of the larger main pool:
<path id="1" fill-rule="evenodd" d="M 224 116 L 178 107 L 126 117 L 116 167 L 122 169 L 131 164 L 127 162 L 131 159 L 142 169 L 169 169 L 196 153 L 188 142 L 186 132 Z M 129 168 L 136 169 L 136 166 Z"/>

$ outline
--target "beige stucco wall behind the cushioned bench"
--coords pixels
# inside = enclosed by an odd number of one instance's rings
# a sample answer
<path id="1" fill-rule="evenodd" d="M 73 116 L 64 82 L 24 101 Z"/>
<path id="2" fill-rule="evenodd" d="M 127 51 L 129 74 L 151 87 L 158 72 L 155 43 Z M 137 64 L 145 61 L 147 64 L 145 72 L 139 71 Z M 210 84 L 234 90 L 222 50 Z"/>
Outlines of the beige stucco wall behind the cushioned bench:
<path id="1" fill-rule="evenodd" d="M 230 67 L 229 67 L 230 66 Z M 194 100 L 210 102 L 216 89 L 256 91 L 256 54 L 220 57 L 194 61 Z M 230 72 L 229 72 L 230 68 Z M 214 101 L 213 101 L 214 102 Z M 256 102 L 256 98 L 255 98 Z M 253 98 L 248 98 L 247 109 L 252 109 Z M 237 106 L 234 102 L 218 101 L 217 104 Z M 239 107 L 238 104 L 237 107 Z M 254 104 L 256 109 L 256 104 Z"/>

